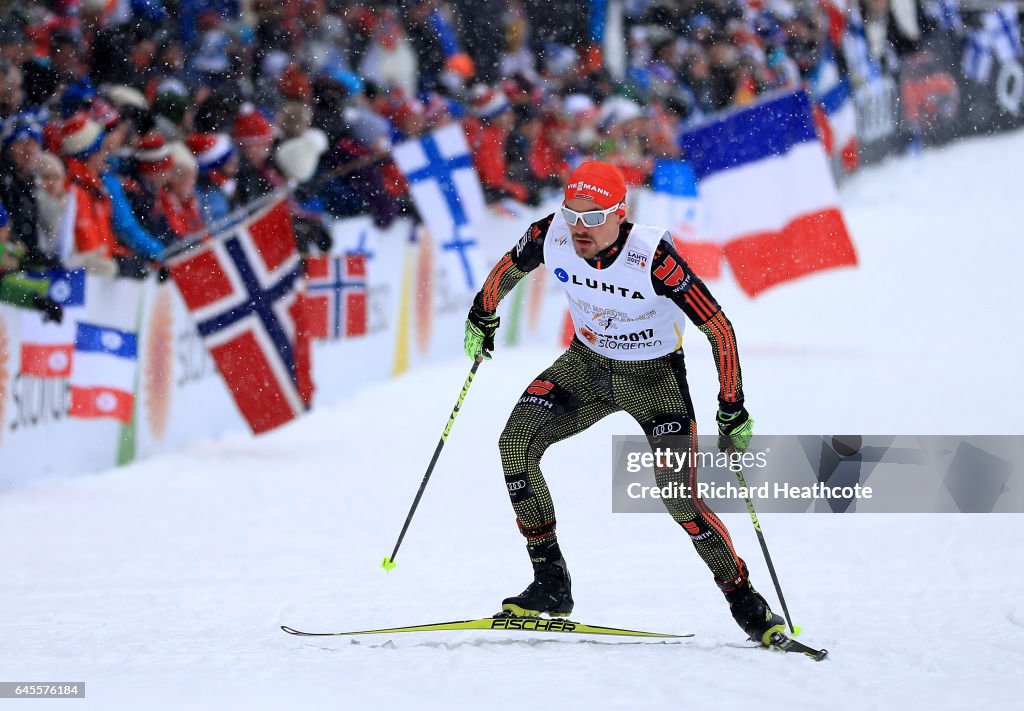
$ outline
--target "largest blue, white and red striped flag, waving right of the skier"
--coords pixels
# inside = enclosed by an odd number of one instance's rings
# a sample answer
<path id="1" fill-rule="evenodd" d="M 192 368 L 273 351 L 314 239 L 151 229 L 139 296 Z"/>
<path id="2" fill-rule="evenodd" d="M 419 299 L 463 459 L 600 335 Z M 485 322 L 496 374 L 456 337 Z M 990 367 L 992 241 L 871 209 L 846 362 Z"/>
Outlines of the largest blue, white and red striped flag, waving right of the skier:
<path id="1" fill-rule="evenodd" d="M 805 92 L 720 115 L 685 132 L 682 145 L 697 176 L 708 235 L 749 295 L 856 265 Z"/>

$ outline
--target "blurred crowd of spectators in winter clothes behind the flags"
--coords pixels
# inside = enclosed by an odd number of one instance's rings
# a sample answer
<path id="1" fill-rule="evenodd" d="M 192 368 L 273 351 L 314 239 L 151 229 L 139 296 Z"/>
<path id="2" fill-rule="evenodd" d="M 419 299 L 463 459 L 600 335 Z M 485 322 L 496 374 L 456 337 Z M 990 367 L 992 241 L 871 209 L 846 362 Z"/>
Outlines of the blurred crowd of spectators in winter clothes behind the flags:
<path id="1" fill-rule="evenodd" d="M 462 123 L 488 201 L 537 204 L 585 158 L 632 184 L 715 112 L 836 61 L 897 71 L 943 0 L 18 0 L 0 10 L 0 300 L 58 320 L 48 269 L 161 270 L 291 189 L 329 220 L 415 215 L 396 142 Z M 862 28 L 856 67 L 844 31 Z M 848 67 L 847 65 L 850 64 Z"/>

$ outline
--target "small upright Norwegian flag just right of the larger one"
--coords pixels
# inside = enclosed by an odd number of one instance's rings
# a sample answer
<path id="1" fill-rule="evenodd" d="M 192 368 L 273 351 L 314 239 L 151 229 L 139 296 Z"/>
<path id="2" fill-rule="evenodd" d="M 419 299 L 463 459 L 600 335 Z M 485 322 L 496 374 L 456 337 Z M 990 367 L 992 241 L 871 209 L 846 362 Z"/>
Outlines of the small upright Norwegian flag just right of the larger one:
<path id="1" fill-rule="evenodd" d="M 321 340 L 367 333 L 367 255 L 306 260 L 309 333 Z"/>

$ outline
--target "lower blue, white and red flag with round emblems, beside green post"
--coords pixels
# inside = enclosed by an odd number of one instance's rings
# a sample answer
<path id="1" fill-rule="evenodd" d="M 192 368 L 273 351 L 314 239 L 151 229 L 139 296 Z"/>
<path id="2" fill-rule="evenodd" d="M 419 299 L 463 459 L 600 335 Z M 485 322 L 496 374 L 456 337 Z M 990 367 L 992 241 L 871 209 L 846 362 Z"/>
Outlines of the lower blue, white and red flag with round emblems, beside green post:
<path id="1" fill-rule="evenodd" d="M 96 279 L 88 320 L 78 322 L 71 372 L 71 416 L 131 422 L 142 293 L 134 280 Z"/>

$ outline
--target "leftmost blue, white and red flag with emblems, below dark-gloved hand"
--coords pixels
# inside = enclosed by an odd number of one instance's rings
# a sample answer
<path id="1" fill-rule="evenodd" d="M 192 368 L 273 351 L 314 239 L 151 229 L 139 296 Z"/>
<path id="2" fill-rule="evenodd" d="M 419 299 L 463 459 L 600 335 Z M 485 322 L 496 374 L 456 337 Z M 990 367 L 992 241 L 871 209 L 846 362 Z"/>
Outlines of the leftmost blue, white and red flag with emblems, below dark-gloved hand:
<path id="1" fill-rule="evenodd" d="M 39 276 L 50 280 L 49 297 L 63 306 L 63 320 L 54 324 L 34 311 L 22 315 L 22 374 L 67 378 L 75 351 L 75 322 L 85 306 L 85 269 Z"/>

